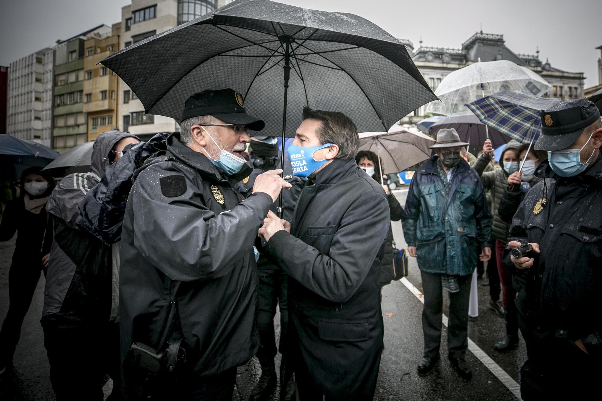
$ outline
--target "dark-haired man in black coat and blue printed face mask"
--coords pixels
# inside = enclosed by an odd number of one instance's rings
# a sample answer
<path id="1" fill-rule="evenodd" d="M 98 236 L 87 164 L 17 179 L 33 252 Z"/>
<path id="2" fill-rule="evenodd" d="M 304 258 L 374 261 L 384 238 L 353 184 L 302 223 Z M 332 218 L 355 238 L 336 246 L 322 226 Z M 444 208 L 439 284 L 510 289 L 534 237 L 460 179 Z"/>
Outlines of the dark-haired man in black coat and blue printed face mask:
<path id="1" fill-rule="evenodd" d="M 300 400 L 370 400 L 382 349 L 380 256 L 385 192 L 355 163 L 359 137 L 342 113 L 305 108 L 288 148 L 308 176 L 293 221 L 259 230 L 288 275 L 290 359 Z"/>

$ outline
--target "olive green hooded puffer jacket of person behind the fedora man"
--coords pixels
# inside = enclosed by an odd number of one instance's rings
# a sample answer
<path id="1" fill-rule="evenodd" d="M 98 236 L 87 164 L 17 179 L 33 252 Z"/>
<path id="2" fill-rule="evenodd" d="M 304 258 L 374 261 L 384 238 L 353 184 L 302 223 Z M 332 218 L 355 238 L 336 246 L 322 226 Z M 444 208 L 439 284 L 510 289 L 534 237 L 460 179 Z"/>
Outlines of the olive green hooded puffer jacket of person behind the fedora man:
<path id="1" fill-rule="evenodd" d="M 504 152 L 510 149 L 517 149 L 521 144 L 518 141 L 511 140 L 507 143 Z M 501 154 L 500 161 L 504 154 Z M 485 191 L 489 191 L 491 194 L 491 214 L 493 215 L 492 220 L 492 232 L 493 237 L 500 241 L 506 241 L 508 237 L 509 225 L 500 219 L 498 215 L 498 209 L 500 208 L 501 198 L 504 196 L 504 191 L 508 187 L 508 173 L 504 169 L 495 169 L 490 172 L 485 172 L 485 168 L 489 166 L 491 158 L 482 154 L 477 158 L 477 161 L 473 165 L 473 169 L 481 177 L 483 187 Z"/>

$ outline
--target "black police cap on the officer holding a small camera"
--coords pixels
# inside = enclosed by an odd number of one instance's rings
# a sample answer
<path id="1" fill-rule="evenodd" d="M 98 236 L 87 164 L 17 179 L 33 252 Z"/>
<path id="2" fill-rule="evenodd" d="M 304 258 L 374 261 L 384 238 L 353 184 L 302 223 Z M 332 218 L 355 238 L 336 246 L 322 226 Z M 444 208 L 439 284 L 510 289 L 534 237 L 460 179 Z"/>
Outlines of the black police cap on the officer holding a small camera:
<path id="1" fill-rule="evenodd" d="M 583 130 L 600 119 L 600 110 L 588 99 L 559 102 L 539 113 L 541 134 L 533 149 L 560 151 L 573 145 Z"/>

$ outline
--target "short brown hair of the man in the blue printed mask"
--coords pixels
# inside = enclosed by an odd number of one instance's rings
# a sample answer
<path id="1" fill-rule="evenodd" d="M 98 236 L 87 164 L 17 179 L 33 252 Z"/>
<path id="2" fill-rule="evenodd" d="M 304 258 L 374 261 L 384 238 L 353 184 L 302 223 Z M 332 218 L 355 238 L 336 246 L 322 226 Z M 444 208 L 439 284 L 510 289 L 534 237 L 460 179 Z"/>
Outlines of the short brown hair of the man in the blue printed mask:
<path id="1" fill-rule="evenodd" d="M 312 110 L 303 107 L 303 120 L 312 119 L 321 122 L 317 135 L 320 143 L 332 142 L 338 145 L 337 159 L 351 159 L 358 152 L 359 135 L 358 127 L 343 113 L 338 111 Z"/>

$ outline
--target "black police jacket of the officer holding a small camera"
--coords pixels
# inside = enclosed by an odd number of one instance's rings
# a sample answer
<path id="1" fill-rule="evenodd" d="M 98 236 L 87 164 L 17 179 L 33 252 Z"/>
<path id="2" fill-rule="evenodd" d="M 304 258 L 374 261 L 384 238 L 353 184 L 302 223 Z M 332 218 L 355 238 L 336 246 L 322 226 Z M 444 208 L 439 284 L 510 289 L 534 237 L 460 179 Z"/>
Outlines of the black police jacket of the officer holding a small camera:
<path id="1" fill-rule="evenodd" d="M 541 250 L 518 295 L 521 330 L 544 352 L 582 340 L 601 358 L 602 157 L 579 176 L 557 176 L 548 161 L 536 175 L 545 180 L 527 193 L 508 238 Z"/>

